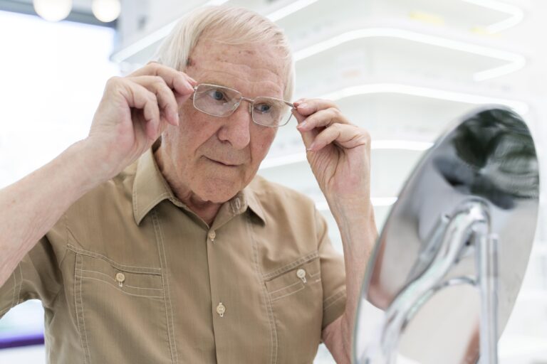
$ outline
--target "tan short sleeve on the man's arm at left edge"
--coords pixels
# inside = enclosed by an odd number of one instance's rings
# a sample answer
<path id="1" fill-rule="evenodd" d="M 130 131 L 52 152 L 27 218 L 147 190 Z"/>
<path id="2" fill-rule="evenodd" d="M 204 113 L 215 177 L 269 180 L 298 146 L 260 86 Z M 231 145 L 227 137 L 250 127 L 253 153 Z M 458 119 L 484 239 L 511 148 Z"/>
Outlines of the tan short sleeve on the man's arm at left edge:
<path id="1" fill-rule="evenodd" d="M 28 299 L 40 299 L 44 307 L 53 305 L 61 290 L 62 277 L 58 265 L 59 252 L 51 245 L 50 238 L 59 235 L 53 228 L 42 237 L 0 287 L 0 318 Z"/>

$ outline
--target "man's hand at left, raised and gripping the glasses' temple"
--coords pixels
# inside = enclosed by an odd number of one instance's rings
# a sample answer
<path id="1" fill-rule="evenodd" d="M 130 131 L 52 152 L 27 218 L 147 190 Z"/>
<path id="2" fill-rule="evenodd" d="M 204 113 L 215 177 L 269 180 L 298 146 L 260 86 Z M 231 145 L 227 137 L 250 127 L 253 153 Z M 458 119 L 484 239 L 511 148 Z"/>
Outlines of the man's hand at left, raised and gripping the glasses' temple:
<path id="1" fill-rule="evenodd" d="M 178 126 L 179 107 L 194 92 L 185 73 L 151 62 L 106 83 L 85 149 L 96 156 L 93 174 L 105 181 L 139 158 L 167 124 Z"/>

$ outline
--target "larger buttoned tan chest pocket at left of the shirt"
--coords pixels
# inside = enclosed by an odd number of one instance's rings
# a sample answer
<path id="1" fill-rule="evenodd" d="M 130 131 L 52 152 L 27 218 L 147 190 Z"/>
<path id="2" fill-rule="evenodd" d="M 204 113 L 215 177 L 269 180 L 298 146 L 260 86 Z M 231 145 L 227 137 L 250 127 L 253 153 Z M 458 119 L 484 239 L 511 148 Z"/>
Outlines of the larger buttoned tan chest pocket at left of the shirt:
<path id="1" fill-rule="evenodd" d="M 75 256 L 75 311 L 84 363 L 171 363 L 162 271 Z"/>

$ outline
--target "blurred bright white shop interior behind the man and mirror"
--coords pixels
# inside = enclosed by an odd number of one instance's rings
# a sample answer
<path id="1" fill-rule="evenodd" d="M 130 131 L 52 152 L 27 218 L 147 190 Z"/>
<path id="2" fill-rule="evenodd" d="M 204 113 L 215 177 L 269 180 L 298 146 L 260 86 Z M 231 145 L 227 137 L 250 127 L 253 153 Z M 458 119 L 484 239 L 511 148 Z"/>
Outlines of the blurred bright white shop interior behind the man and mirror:
<path id="1" fill-rule="evenodd" d="M 424 151 L 479 105 L 507 105 L 526 119 L 547 176 L 545 0 L 0 0 L 0 188 L 85 138 L 106 80 L 147 63 L 179 17 L 210 4 L 245 6 L 278 23 L 295 52 L 295 100 L 335 100 L 368 129 L 379 228 Z M 259 173 L 315 199 L 342 252 L 295 125 L 279 129 Z M 505 364 L 547 363 L 543 195 L 499 344 Z M 42 321 L 38 301 L 6 314 L 0 363 L 44 363 Z M 324 346 L 316 363 L 334 363 Z"/>

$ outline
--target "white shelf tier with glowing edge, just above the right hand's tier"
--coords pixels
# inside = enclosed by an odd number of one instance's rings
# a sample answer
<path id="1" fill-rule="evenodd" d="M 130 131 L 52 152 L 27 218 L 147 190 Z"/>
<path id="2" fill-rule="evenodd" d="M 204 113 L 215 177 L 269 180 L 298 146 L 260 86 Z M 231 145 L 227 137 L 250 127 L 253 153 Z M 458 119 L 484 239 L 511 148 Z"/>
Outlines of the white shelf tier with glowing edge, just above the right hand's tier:
<path id="1" fill-rule="evenodd" d="M 420 75 L 462 83 L 508 75 L 526 65 L 520 53 L 385 26 L 335 33 L 297 50 L 294 57 L 301 80 L 313 80 L 313 70 L 324 68 L 325 73 L 360 80 Z"/>

